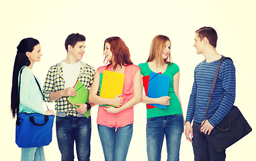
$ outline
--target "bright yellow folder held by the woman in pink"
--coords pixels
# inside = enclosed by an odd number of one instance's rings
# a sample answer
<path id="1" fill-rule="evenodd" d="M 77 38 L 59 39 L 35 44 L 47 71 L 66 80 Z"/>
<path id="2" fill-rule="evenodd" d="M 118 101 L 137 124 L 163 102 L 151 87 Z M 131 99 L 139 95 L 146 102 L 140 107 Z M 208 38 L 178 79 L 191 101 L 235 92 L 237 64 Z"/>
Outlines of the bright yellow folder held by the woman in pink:
<path id="1" fill-rule="evenodd" d="M 103 70 L 102 83 L 101 83 L 101 89 L 100 89 L 100 95 L 99 95 L 100 97 L 103 97 L 106 99 L 114 99 L 116 95 L 122 94 L 123 87 L 124 87 L 123 73 Z M 111 106 L 119 107 L 116 105 L 111 105 Z"/>

